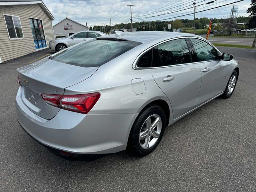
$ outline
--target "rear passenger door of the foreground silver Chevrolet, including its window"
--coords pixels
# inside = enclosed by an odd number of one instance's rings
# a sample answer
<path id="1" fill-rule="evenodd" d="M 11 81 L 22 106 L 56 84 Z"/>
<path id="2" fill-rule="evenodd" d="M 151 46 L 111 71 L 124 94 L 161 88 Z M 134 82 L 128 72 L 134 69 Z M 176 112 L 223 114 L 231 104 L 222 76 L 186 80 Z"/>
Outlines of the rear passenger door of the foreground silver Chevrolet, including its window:
<path id="1" fill-rule="evenodd" d="M 154 47 L 152 75 L 170 100 L 174 119 L 198 105 L 202 76 L 184 38 Z"/>

